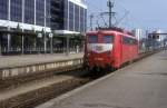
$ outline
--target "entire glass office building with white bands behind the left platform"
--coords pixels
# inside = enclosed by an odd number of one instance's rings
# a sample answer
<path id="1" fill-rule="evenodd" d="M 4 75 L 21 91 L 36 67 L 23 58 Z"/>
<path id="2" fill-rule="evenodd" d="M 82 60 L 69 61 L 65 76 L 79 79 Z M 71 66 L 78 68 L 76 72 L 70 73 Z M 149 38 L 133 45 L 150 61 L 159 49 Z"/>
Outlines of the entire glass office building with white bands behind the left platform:
<path id="1" fill-rule="evenodd" d="M 22 47 L 19 47 L 22 49 L 28 46 L 37 47 L 37 32 L 79 35 L 87 28 L 85 0 L 0 0 L 0 49 L 8 51 L 13 47 L 12 39 L 16 38 L 16 35 L 11 32 L 16 32 L 18 29 L 21 32 L 33 31 L 36 33 L 36 41 L 31 45 L 26 43 L 28 40 L 32 40 L 27 39 L 31 35 L 21 35 L 20 45 Z M 49 39 L 42 38 L 41 40 Z"/>

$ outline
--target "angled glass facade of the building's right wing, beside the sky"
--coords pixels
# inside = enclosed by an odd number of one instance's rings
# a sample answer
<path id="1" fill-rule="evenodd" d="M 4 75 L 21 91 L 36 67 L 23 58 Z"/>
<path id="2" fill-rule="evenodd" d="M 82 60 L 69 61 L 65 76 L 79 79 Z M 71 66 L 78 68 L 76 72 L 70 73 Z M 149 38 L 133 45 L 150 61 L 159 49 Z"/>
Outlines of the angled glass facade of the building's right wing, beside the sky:
<path id="1" fill-rule="evenodd" d="M 87 27 L 87 9 L 65 0 L 65 30 L 85 32 Z"/>

